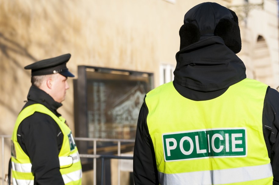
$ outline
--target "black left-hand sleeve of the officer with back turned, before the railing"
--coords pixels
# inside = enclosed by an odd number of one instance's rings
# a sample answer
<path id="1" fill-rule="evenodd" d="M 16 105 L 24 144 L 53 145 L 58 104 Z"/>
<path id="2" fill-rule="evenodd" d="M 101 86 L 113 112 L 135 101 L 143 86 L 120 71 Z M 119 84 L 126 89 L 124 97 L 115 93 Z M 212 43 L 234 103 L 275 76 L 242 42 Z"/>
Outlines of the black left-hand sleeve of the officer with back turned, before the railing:
<path id="1" fill-rule="evenodd" d="M 148 109 L 145 102 L 141 106 L 134 147 L 134 182 L 135 185 L 159 184 L 156 158 L 150 138 L 146 117 Z"/>

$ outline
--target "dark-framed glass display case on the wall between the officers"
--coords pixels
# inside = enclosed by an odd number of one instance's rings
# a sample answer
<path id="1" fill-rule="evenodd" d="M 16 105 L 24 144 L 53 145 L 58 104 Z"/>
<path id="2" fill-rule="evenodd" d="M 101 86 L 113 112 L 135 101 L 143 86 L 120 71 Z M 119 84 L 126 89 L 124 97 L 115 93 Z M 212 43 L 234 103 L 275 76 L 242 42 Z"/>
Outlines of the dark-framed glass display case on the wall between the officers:
<path id="1" fill-rule="evenodd" d="M 78 66 L 75 136 L 134 139 L 144 96 L 152 88 L 153 73 Z"/>

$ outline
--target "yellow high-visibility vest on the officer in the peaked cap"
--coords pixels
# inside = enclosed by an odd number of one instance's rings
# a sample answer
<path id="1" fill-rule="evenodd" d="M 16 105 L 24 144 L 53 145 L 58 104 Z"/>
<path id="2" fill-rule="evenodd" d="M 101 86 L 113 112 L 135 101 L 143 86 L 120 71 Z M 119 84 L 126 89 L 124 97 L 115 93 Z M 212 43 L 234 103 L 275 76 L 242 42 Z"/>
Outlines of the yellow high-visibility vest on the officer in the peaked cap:
<path id="1" fill-rule="evenodd" d="M 63 144 L 58 155 L 60 173 L 66 185 L 80 185 L 82 177 L 81 163 L 71 130 L 65 124 L 65 119 L 63 117 L 55 116 L 53 112 L 41 104 L 33 104 L 24 108 L 16 119 L 11 138 L 13 184 L 34 184 L 34 174 L 31 172 L 32 163 L 17 141 L 18 126 L 23 119 L 34 114 L 34 112 L 41 112 L 51 116 L 60 127 L 63 133 Z"/>

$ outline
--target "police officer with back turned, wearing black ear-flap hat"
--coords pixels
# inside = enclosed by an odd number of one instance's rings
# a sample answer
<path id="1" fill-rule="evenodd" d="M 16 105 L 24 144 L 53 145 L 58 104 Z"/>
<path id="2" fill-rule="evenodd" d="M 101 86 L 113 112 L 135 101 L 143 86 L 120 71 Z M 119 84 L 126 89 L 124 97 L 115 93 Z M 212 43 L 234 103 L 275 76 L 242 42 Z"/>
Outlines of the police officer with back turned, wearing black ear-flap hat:
<path id="1" fill-rule="evenodd" d="M 141 107 L 135 184 L 279 184 L 279 93 L 246 78 L 235 12 L 196 5 L 179 35 L 174 81 Z"/>

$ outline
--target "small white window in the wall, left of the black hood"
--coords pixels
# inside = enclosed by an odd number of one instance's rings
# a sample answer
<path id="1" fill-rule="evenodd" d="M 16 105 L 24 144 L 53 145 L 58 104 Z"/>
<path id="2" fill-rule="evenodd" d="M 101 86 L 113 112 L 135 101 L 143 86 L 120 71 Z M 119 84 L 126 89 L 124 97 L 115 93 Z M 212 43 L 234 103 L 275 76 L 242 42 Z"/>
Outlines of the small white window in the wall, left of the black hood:
<path id="1" fill-rule="evenodd" d="M 175 69 L 175 66 L 173 66 L 171 64 L 161 64 L 160 65 L 160 85 L 173 81 L 174 69 Z"/>

